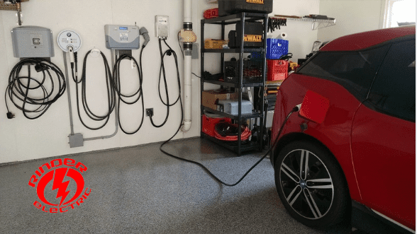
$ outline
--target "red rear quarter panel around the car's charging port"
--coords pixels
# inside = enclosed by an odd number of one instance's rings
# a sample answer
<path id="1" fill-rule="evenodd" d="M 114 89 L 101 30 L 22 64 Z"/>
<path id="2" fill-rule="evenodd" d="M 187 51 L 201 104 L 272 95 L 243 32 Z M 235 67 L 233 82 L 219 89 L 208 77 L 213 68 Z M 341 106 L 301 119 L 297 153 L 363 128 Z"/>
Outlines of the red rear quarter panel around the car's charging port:
<path id="1" fill-rule="evenodd" d="M 302 123 L 308 124 L 308 129 L 304 134 L 324 144 L 336 157 L 345 173 L 347 185 L 350 189 L 350 197 L 360 201 L 360 192 L 357 187 L 356 177 L 352 164 L 350 152 L 350 131 L 355 111 L 360 106 L 360 102 L 351 95 L 343 86 L 332 81 L 320 78 L 304 76 L 301 74 L 291 74 L 283 83 L 277 94 L 275 105 L 275 115 L 272 126 L 272 141 L 278 134 L 285 117 L 291 109 L 303 102 L 307 90 L 320 93 L 330 100 L 330 107 L 326 118 L 322 124 L 316 124 L 300 117 L 298 113 L 291 115 L 280 137 L 285 134 L 300 132 L 299 127 Z"/>

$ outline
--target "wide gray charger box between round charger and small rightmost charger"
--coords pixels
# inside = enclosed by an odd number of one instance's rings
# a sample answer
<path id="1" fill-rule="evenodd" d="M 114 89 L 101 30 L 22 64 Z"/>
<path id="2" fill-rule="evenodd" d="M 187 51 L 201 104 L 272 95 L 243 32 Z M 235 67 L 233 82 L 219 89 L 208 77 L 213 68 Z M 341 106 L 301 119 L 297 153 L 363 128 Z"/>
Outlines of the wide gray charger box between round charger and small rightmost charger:
<path id="1" fill-rule="evenodd" d="M 139 49 L 138 26 L 104 25 L 107 49 Z"/>

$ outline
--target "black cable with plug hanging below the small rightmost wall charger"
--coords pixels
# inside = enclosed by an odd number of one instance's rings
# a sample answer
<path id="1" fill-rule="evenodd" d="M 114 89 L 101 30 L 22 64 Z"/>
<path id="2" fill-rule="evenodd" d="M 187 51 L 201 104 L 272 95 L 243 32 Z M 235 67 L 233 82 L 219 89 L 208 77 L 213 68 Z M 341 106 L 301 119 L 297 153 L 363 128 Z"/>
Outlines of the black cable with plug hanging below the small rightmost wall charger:
<path id="1" fill-rule="evenodd" d="M 169 49 L 167 49 L 165 52 L 162 53 L 162 41 L 165 42 L 165 45 L 167 45 L 167 47 Z M 153 112 L 149 112 L 148 115 L 150 117 L 150 123 L 152 124 L 153 127 L 162 127 L 167 123 L 168 117 L 169 117 L 169 107 L 172 107 L 173 105 L 177 104 L 178 101 L 180 101 L 181 103 L 181 81 L 179 78 L 179 68 L 178 68 L 178 58 L 177 58 L 177 53 L 174 52 L 174 50 L 169 47 L 169 45 L 167 44 L 167 41 L 165 39 L 160 39 L 159 40 L 159 44 L 160 44 L 160 57 L 161 57 L 161 66 L 160 66 L 160 78 L 159 78 L 159 82 L 158 82 L 158 93 L 160 95 L 160 100 L 161 102 L 167 107 L 167 115 L 165 115 L 165 120 L 164 122 L 162 122 L 162 124 L 155 124 L 155 122 L 153 122 Z M 178 98 L 177 100 L 175 100 L 174 103 L 169 103 L 169 92 L 168 92 L 168 85 L 167 85 L 167 75 L 165 74 L 165 64 L 164 64 L 164 58 L 165 55 L 174 56 L 174 60 L 175 60 L 175 66 L 177 68 L 177 82 L 178 82 Z M 161 76 L 164 79 L 164 86 L 165 86 L 165 95 L 167 96 L 167 102 L 165 103 L 165 101 L 162 99 L 162 95 L 161 95 Z M 181 118 L 182 119 L 182 118 Z M 176 133 L 177 134 L 177 133 Z"/>

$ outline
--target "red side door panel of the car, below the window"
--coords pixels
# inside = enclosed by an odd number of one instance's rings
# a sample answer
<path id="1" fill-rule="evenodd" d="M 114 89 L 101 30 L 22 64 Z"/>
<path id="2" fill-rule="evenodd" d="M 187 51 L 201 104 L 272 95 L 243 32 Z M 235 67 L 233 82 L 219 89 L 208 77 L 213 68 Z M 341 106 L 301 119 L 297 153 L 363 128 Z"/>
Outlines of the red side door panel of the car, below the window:
<path id="1" fill-rule="evenodd" d="M 416 124 L 362 105 L 352 127 L 352 155 L 362 203 L 416 227 Z"/>

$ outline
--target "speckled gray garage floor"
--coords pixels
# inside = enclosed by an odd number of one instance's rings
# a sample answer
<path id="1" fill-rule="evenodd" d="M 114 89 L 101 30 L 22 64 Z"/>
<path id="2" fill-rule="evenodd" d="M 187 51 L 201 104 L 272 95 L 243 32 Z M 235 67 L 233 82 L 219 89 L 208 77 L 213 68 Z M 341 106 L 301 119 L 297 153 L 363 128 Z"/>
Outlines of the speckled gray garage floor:
<path id="1" fill-rule="evenodd" d="M 198 166 L 165 156 L 159 146 L 60 157 L 88 167 L 82 175 L 91 189 L 84 203 L 66 213 L 33 205 L 39 199 L 28 181 L 51 158 L 0 166 L 0 233 L 349 233 L 294 221 L 279 201 L 269 159 L 239 185 L 224 187 Z M 204 139 L 174 141 L 165 149 L 198 160 L 229 183 L 260 158 L 235 157 Z"/>

